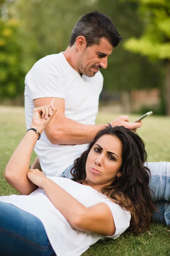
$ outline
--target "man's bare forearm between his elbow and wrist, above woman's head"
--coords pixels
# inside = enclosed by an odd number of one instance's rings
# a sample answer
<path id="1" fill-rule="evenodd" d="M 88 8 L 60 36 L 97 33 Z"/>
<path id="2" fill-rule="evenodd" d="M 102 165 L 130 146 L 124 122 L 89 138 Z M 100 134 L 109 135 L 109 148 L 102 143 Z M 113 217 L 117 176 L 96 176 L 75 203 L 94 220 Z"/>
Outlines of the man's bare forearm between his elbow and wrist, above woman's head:
<path id="1" fill-rule="evenodd" d="M 83 125 L 72 119 L 57 120 L 57 125 L 46 128 L 45 134 L 52 144 L 76 145 L 90 143 L 96 133 L 106 125 Z"/>

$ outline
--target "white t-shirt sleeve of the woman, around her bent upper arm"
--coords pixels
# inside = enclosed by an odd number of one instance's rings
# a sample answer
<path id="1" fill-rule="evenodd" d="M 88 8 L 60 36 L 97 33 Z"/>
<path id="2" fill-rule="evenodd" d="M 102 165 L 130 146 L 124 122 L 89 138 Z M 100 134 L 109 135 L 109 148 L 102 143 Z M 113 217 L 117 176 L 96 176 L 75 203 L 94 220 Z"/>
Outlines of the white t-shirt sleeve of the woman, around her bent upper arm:
<path id="1" fill-rule="evenodd" d="M 125 211 L 122 209 L 122 207 L 119 206 L 119 204 L 116 204 L 110 200 L 107 200 L 104 202 L 108 205 L 108 207 L 111 209 L 114 224 L 116 227 L 116 232 L 113 236 L 106 236 L 111 239 L 118 238 L 130 225 L 130 212 Z"/>

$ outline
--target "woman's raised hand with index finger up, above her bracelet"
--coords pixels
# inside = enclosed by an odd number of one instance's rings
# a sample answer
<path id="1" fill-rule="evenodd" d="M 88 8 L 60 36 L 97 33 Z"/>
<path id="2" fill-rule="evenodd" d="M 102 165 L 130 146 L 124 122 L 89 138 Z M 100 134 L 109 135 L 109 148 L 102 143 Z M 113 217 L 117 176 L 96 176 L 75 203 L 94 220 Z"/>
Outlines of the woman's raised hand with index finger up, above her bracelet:
<path id="1" fill-rule="evenodd" d="M 36 128 L 40 133 L 42 133 L 45 126 L 48 125 L 57 111 L 57 108 L 54 107 L 54 103 L 55 99 L 52 99 L 50 105 L 34 108 L 30 128 Z"/>

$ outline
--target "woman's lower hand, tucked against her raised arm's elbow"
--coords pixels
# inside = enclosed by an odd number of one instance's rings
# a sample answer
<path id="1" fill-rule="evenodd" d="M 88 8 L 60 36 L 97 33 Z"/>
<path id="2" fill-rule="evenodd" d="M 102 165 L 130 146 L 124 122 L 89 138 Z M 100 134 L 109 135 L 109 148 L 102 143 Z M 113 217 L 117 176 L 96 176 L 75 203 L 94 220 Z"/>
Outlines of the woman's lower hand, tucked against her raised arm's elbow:
<path id="1" fill-rule="evenodd" d="M 48 180 L 43 172 L 40 172 L 39 169 L 28 169 L 27 177 L 32 181 L 35 185 L 42 188 L 42 184 L 44 181 Z"/>

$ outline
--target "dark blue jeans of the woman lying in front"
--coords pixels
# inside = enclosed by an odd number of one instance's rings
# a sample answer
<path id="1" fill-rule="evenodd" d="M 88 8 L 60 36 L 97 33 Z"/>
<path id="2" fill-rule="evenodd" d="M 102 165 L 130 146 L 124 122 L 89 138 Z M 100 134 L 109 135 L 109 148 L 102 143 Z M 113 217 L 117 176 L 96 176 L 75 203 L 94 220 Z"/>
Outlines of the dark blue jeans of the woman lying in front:
<path id="1" fill-rule="evenodd" d="M 12 204 L 0 201 L 0 255 L 54 256 L 42 222 Z"/>

